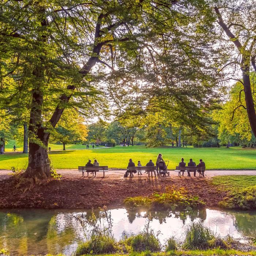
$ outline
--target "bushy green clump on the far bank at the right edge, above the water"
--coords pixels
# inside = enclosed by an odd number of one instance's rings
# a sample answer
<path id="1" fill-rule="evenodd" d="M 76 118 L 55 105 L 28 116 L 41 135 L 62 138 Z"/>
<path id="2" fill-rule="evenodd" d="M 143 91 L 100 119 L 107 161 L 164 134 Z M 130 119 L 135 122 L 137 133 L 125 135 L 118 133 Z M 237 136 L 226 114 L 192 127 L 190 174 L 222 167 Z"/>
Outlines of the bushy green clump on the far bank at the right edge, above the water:
<path id="1" fill-rule="evenodd" d="M 231 192 L 225 201 L 219 202 L 223 208 L 253 210 L 256 209 L 256 185 L 242 189 L 241 191 Z"/>

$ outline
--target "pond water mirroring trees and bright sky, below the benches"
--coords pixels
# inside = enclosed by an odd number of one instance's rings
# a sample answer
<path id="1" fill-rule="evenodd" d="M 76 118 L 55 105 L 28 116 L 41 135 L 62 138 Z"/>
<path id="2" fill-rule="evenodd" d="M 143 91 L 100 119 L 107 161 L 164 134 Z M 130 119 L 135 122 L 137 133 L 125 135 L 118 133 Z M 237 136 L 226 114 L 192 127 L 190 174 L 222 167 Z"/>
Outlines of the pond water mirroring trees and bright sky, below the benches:
<path id="1" fill-rule="evenodd" d="M 116 208 L 108 210 L 113 220 L 114 237 L 136 234 L 144 229 L 149 211 Z M 98 210 L 94 210 L 98 217 Z M 71 255 L 84 231 L 74 216 L 88 218 L 91 210 L 0 210 L 0 249 L 7 248 L 12 255 L 44 255 L 64 253 Z M 215 234 L 231 234 L 246 242 L 256 237 L 256 211 L 226 211 L 200 209 L 193 211 L 151 211 L 150 227 L 159 233 L 162 244 L 170 236 L 182 240 L 191 221 L 201 219 Z"/>

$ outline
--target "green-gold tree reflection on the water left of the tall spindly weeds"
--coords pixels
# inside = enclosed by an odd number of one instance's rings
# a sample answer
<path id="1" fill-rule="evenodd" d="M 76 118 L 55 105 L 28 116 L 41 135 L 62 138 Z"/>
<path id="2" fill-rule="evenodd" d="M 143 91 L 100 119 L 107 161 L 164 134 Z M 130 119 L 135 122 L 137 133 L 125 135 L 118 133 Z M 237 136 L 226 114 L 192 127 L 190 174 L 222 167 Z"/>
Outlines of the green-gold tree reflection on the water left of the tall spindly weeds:
<path id="1" fill-rule="evenodd" d="M 83 230 L 70 213 L 47 210 L 0 212 L 0 248 L 13 255 L 44 255 L 63 252 L 83 238 Z M 74 248 L 75 249 L 75 248 Z"/>

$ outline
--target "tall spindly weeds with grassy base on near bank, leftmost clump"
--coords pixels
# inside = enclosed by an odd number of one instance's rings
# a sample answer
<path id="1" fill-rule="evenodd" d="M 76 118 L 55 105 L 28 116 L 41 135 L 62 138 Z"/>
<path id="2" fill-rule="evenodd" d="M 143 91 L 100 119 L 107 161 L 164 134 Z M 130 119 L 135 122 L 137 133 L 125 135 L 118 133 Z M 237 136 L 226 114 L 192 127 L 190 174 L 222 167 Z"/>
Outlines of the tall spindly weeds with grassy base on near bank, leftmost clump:
<path id="1" fill-rule="evenodd" d="M 114 253 L 116 251 L 117 242 L 112 234 L 112 219 L 106 208 L 100 209 L 99 221 L 94 212 L 88 219 L 83 219 L 83 215 L 75 218 L 82 225 L 87 241 L 78 246 L 74 256 Z"/>

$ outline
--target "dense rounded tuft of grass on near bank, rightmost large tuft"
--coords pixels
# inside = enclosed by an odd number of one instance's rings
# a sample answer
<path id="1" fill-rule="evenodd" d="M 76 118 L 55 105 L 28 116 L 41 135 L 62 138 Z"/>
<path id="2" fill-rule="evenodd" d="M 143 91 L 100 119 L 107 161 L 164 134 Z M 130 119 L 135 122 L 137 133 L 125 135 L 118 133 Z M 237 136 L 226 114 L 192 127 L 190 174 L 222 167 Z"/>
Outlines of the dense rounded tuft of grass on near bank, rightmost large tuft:
<path id="1" fill-rule="evenodd" d="M 209 247 L 208 241 L 214 239 L 212 231 L 203 222 L 192 222 L 185 230 L 184 249 L 204 249 Z"/>

